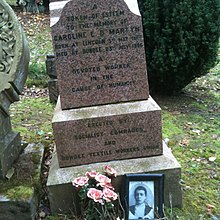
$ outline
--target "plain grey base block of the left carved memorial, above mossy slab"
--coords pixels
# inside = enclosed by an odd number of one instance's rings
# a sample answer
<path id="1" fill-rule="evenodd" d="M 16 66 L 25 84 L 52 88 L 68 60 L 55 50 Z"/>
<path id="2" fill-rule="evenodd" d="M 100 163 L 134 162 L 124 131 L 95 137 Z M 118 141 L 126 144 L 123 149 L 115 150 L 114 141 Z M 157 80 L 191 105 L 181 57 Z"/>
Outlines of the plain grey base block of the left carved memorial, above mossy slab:
<path id="1" fill-rule="evenodd" d="M 21 139 L 18 132 L 11 131 L 0 140 L 0 179 L 4 178 L 21 152 Z"/>

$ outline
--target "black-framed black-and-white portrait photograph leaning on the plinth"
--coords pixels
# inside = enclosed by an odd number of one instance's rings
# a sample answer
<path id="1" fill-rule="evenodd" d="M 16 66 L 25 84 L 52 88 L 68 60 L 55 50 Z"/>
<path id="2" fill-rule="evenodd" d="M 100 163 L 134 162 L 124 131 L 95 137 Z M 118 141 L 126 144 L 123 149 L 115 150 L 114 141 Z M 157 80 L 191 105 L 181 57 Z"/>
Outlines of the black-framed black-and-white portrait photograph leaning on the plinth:
<path id="1" fill-rule="evenodd" d="M 126 219 L 163 218 L 163 190 L 163 174 L 126 174 L 123 193 Z"/>

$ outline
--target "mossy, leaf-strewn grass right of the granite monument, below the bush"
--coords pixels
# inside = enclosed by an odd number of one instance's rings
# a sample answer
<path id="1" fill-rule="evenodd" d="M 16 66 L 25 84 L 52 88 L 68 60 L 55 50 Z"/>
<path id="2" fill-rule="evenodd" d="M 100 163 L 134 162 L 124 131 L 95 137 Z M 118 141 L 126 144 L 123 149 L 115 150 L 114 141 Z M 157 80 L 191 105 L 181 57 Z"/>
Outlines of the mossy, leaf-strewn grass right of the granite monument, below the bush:
<path id="1" fill-rule="evenodd" d="M 213 72 L 212 72 L 213 71 Z M 163 137 L 182 166 L 183 208 L 170 219 L 212 219 L 220 207 L 220 65 L 187 86 L 185 95 L 158 99 Z M 186 96 L 187 95 L 187 96 Z M 208 210 L 209 204 L 215 208 Z"/>

